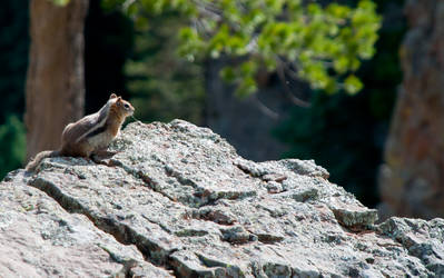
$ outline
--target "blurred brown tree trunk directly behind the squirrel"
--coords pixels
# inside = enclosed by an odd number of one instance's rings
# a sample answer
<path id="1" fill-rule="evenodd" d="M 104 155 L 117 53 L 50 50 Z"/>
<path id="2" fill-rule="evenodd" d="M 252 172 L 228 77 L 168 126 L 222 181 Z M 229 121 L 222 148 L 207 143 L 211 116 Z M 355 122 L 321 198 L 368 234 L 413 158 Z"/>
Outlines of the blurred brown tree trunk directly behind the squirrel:
<path id="1" fill-rule="evenodd" d="M 24 122 L 27 159 L 57 149 L 65 126 L 83 115 L 83 26 L 88 0 L 59 7 L 30 1 L 30 59 Z"/>

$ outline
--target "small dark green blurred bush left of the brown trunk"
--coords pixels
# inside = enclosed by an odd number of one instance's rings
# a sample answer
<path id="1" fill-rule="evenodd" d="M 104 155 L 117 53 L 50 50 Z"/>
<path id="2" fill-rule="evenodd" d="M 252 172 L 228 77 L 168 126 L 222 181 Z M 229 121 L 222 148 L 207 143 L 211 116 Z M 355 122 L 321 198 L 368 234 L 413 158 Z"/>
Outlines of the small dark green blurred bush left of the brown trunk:
<path id="1" fill-rule="evenodd" d="M 9 171 L 21 167 L 26 156 L 26 130 L 23 123 L 9 116 L 0 126 L 0 179 Z"/>

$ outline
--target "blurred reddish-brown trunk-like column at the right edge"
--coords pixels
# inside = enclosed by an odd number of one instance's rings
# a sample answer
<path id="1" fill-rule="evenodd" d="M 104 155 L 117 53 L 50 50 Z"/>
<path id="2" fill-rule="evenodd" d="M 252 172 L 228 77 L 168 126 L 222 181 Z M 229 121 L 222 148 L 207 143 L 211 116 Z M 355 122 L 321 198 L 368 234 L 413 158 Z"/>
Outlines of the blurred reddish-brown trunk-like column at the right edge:
<path id="1" fill-rule="evenodd" d="M 382 214 L 444 216 L 444 2 L 408 0 L 404 80 L 381 171 Z"/>

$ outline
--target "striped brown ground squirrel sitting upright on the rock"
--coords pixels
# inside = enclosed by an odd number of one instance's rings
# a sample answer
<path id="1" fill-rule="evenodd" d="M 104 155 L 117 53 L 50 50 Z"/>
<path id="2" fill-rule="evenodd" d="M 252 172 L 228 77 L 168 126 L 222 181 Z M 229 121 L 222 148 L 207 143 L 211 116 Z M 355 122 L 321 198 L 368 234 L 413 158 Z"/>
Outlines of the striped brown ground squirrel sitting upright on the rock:
<path id="1" fill-rule="evenodd" d="M 33 171 L 43 158 L 48 157 L 85 157 L 107 152 L 112 139 L 120 131 L 121 125 L 135 108 L 121 97 L 111 93 L 108 102 L 96 113 L 88 115 L 80 120 L 69 123 L 61 133 L 61 148 L 39 152 L 27 167 Z"/>

